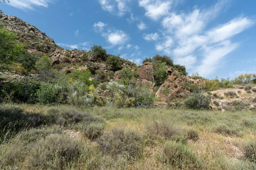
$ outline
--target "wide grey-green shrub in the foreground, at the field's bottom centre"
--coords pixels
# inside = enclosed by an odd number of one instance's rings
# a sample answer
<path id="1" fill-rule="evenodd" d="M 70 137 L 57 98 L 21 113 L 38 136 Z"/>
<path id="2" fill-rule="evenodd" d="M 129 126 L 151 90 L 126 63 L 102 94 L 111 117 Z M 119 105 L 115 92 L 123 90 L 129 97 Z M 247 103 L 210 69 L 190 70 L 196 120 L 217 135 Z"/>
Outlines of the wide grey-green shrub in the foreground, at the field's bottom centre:
<path id="1" fill-rule="evenodd" d="M 125 154 L 130 161 L 143 156 L 143 136 L 134 130 L 112 129 L 98 139 L 99 149 L 113 157 Z"/>

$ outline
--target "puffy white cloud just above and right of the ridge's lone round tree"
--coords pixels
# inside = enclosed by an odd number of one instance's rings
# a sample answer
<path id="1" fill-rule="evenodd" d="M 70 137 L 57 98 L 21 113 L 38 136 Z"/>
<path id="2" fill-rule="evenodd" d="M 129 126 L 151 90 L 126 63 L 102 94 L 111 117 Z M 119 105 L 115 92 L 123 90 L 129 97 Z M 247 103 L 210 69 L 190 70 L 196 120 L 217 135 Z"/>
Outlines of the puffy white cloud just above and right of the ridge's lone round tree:
<path id="1" fill-rule="evenodd" d="M 106 40 L 113 46 L 122 45 L 129 39 L 129 36 L 125 34 L 125 32 L 119 30 L 109 30 L 108 33 L 104 33 L 102 36 L 105 37 Z"/>

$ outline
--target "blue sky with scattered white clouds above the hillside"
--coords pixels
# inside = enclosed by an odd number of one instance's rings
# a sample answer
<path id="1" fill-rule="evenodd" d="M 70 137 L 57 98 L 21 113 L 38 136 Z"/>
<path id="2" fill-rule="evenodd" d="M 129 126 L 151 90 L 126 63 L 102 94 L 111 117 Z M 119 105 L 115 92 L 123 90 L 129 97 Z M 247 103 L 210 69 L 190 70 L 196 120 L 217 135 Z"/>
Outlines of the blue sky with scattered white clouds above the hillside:
<path id="1" fill-rule="evenodd" d="M 256 73 L 255 0 L 10 0 L 5 14 L 36 26 L 63 48 L 102 45 L 141 63 L 155 54 L 189 74 Z"/>

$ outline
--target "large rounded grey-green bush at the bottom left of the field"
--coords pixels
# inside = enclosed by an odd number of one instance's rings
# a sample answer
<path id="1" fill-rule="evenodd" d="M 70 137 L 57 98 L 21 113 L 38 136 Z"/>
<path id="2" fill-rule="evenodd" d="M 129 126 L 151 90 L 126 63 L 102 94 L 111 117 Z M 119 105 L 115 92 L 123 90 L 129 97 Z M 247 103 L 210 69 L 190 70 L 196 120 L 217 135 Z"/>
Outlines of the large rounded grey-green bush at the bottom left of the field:
<path id="1" fill-rule="evenodd" d="M 29 169 L 71 169 L 83 152 L 81 142 L 52 134 L 41 139 L 29 156 Z"/>

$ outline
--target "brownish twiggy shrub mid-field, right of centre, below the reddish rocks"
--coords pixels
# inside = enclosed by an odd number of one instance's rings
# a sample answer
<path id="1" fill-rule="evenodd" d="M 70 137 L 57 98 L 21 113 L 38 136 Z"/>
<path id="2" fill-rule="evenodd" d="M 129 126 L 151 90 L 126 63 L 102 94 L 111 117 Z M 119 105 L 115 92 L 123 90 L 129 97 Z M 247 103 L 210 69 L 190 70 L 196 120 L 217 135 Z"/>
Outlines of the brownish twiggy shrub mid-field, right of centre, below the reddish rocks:
<path id="1" fill-rule="evenodd" d="M 152 138 L 161 136 L 163 138 L 171 138 L 174 135 L 180 134 L 180 129 L 177 128 L 170 120 L 154 120 L 147 126 L 147 131 Z"/>

